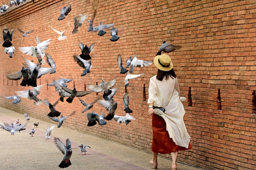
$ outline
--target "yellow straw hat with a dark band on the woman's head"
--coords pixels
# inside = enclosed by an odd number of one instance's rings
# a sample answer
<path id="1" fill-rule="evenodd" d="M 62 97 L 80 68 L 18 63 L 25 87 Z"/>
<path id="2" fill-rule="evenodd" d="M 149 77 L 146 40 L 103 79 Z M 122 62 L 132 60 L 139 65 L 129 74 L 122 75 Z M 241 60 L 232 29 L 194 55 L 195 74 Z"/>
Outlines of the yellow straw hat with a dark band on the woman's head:
<path id="1" fill-rule="evenodd" d="M 155 56 L 154 64 L 159 70 L 162 71 L 170 71 L 173 68 L 171 57 L 167 54 Z"/>

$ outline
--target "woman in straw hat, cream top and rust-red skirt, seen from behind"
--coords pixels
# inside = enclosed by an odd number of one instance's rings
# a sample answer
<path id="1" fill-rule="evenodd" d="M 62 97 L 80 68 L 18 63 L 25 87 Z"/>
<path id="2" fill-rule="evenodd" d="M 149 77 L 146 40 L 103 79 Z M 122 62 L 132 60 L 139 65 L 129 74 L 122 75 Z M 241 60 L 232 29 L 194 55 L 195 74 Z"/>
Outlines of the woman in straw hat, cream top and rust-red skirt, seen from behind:
<path id="1" fill-rule="evenodd" d="M 171 168 L 176 170 L 178 151 L 192 148 L 183 120 L 185 110 L 180 101 L 179 84 L 171 57 L 166 54 L 157 55 L 154 64 L 158 71 L 157 75 L 150 78 L 148 88 L 148 113 L 152 117 L 153 128 L 153 159 L 149 162 L 157 169 L 158 153 L 171 153 Z M 163 112 L 156 107 L 166 110 Z"/>

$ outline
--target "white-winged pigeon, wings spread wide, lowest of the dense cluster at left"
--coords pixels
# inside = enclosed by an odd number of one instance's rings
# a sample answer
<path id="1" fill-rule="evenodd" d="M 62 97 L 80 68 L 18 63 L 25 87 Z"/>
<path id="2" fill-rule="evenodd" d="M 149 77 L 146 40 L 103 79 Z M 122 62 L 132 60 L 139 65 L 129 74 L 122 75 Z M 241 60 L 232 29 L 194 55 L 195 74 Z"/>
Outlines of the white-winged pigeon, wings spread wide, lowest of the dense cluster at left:
<path id="1" fill-rule="evenodd" d="M 37 97 L 37 95 L 40 95 L 40 90 L 45 84 L 42 84 L 37 87 L 33 87 L 33 90 L 30 91 L 16 91 L 17 95 L 23 98 L 32 99 L 34 100 L 34 105 L 39 106 L 43 101 Z"/>

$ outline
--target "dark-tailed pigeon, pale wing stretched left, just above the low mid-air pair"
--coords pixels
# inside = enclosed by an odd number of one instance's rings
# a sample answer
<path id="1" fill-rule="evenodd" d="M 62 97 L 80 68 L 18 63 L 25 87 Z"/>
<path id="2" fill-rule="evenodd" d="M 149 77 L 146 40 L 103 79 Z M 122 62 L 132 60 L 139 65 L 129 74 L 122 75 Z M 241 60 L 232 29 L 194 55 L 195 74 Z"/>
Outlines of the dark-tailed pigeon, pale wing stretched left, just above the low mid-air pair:
<path id="1" fill-rule="evenodd" d="M 109 111 L 108 115 L 105 117 L 106 120 L 111 120 L 113 119 L 115 115 L 115 111 L 117 109 L 117 103 L 115 102 L 114 99 L 109 100 L 97 100 L 97 102 L 106 108 L 106 110 Z"/>

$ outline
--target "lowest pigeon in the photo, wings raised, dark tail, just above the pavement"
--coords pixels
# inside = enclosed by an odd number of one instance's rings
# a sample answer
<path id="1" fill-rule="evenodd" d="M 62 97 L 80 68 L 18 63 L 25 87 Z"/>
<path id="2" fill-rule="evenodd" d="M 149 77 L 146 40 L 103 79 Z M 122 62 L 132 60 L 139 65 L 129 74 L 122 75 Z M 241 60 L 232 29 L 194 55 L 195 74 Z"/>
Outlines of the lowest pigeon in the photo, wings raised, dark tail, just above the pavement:
<path id="1" fill-rule="evenodd" d="M 70 139 L 66 140 L 66 146 L 65 146 L 60 139 L 54 137 L 54 144 L 56 144 L 56 146 L 59 148 L 59 150 L 61 150 L 61 152 L 64 155 L 64 157 L 58 167 L 67 168 L 68 166 L 71 165 L 70 157 L 72 155 L 72 149 L 71 149 Z"/>

